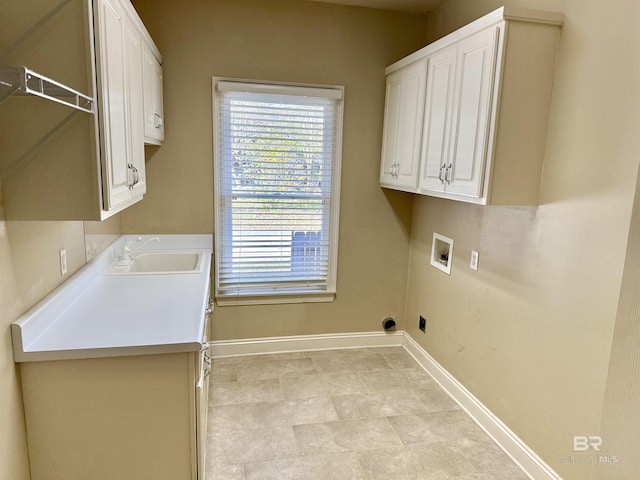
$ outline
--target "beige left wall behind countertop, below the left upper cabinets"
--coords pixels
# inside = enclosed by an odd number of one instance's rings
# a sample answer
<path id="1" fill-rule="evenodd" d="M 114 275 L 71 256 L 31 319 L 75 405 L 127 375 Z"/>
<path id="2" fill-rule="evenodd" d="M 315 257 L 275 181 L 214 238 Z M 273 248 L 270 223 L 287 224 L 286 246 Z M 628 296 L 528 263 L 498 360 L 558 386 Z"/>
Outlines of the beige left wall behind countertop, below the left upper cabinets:
<path id="1" fill-rule="evenodd" d="M 0 192 L 0 198 L 1 192 Z M 28 480 L 29 467 L 18 368 L 9 325 L 119 233 L 117 216 L 106 222 L 6 221 L 0 203 L 0 480 Z M 68 273 L 60 275 L 58 251 L 67 250 Z"/>

